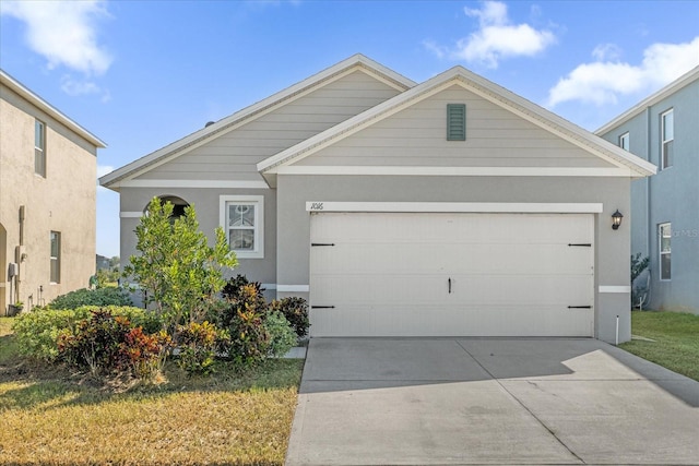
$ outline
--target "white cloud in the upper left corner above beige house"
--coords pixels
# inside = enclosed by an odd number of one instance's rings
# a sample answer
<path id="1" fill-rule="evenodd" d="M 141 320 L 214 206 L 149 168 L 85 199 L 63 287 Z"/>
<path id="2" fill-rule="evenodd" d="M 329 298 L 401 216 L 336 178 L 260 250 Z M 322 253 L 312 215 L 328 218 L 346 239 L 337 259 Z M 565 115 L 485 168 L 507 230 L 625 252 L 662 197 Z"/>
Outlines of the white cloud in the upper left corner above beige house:
<path id="1" fill-rule="evenodd" d="M 96 38 L 97 20 L 109 16 L 99 0 L 2 0 L 0 13 L 26 23 L 27 44 L 48 60 L 49 69 L 64 65 L 92 75 L 111 64 L 111 56 Z"/>

